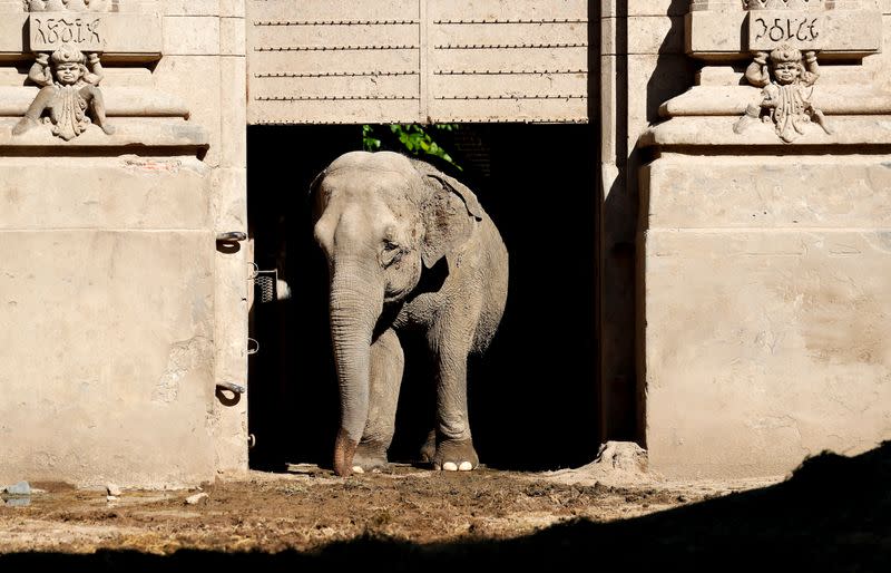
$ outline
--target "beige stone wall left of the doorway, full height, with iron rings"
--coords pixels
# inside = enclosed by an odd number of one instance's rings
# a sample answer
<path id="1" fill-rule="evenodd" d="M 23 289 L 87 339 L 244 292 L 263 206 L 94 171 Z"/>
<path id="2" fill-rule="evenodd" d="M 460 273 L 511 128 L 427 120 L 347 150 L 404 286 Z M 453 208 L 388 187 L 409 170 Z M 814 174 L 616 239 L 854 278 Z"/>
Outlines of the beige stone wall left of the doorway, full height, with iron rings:
<path id="1" fill-rule="evenodd" d="M 104 57 L 114 136 L 10 138 L 36 89 L 9 46 L 21 26 L 0 40 L 0 146 L 17 146 L 0 162 L 0 483 L 178 487 L 247 467 L 246 396 L 216 389 L 246 385 L 246 249 L 215 242 L 246 231 L 244 2 L 121 11 L 163 36 L 160 56 Z"/>

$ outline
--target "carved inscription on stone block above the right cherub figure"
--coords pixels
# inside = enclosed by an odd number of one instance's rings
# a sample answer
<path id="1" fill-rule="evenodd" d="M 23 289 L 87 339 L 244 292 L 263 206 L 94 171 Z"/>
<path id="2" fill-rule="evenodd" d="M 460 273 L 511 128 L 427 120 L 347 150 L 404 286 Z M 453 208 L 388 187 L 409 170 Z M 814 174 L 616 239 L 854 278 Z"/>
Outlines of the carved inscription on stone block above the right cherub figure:
<path id="1" fill-rule="evenodd" d="M 814 12 L 757 10 L 748 14 L 748 49 L 771 50 L 781 43 L 820 49 L 824 17 Z"/>

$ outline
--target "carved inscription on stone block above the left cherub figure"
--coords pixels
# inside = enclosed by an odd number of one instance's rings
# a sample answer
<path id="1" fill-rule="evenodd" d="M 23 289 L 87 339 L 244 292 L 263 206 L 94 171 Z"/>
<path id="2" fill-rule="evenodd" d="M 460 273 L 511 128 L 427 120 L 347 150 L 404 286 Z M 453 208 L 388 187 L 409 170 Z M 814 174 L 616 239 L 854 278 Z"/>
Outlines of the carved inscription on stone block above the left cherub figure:
<path id="1" fill-rule="evenodd" d="M 29 17 L 31 51 L 52 51 L 62 45 L 81 51 L 102 51 L 102 19 L 92 14 L 40 14 Z"/>

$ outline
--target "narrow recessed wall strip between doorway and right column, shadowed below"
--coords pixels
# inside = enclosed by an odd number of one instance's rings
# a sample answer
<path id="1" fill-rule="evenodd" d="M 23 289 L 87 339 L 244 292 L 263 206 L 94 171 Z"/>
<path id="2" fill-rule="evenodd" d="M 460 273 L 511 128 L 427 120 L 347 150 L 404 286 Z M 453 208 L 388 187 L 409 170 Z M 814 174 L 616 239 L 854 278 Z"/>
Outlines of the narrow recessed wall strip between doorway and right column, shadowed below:
<path id="1" fill-rule="evenodd" d="M 603 129 L 600 212 L 601 435 L 640 439 L 634 334 L 637 174 L 649 159 L 638 138 L 659 105 L 686 90 L 695 65 L 684 54 L 686 0 L 604 0 L 600 38 Z"/>

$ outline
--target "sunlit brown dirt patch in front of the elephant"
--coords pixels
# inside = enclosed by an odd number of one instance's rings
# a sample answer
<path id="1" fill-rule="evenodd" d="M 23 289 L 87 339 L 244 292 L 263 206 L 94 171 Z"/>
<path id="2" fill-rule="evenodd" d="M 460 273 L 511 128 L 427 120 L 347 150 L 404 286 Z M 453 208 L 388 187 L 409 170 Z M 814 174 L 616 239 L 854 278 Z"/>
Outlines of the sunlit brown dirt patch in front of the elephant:
<path id="1" fill-rule="evenodd" d="M 106 492 L 48 486 L 30 504 L 0 507 L 0 552 L 91 553 L 126 548 L 166 554 L 213 551 L 312 551 L 334 541 L 385 536 L 413 543 L 512 538 L 576 518 L 643 515 L 731 489 L 693 492 L 664 484 L 630 487 L 566 483 L 547 474 L 481 468 L 444 473 L 393 466 L 346 479 L 314 466 L 252 472 L 195 491 Z"/>

